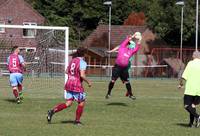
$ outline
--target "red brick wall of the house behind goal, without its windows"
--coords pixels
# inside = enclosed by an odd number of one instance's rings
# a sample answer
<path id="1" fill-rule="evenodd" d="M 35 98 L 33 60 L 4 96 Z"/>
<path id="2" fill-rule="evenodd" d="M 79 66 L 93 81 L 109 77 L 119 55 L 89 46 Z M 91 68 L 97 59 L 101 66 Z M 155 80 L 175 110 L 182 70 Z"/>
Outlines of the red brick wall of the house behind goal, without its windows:
<path id="1" fill-rule="evenodd" d="M 24 0 L 5 0 L 5 3 L 0 5 L 0 21 L 9 25 L 23 25 L 23 22 L 34 22 L 39 25 L 44 24 L 45 19 Z M 36 46 L 34 38 L 23 38 L 22 36 L 22 29 L 6 29 L 5 33 L 0 33 L 0 39 L 5 40 L 6 38 L 12 41 L 13 45 Z"/>

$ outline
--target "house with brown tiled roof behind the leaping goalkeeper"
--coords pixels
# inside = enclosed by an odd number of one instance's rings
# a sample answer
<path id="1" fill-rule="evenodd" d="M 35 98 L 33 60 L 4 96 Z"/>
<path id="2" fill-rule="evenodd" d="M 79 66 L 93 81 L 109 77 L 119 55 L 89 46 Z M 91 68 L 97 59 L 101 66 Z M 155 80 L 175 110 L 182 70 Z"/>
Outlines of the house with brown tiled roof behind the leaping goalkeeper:
<path id="1" fill-rule="evenodd" d="M 148 61 L 152 56 L 150 55 L 153 48 L 159 47 L 164 48 L 168 45 L 156 37 L 151 30 L 146 26 L 128 26 L 128 25 L 112 25 L 111 26 L 111 45 L 110 48 L 118 46 L 127 35 L 133 34 L 139 31 L 142 33 L 142 47 L 136 55 L 132 62 L 133 65 L 152 65 L 154 61 Z M 108 25 L 99 25 L 96 30 L 94 30 L 84 41 L 83 46 L 88 49 L 86 56 L 86 61 L 89 65 L 108 65 L 108 54 L 105 53 L 108 50 Z M 110 64 L 114 65 L 116 58 L 116 53 L 112 53 L 110 56 Z M 152 63 L 152 64 L 147 64 Z M 105 74 L 107 68 L 102 69 L 99 67 L 93 67 L 89 69 L 90 74 Z M 137 74 L 141 74 L 143 69 L 135 70 Z"/>

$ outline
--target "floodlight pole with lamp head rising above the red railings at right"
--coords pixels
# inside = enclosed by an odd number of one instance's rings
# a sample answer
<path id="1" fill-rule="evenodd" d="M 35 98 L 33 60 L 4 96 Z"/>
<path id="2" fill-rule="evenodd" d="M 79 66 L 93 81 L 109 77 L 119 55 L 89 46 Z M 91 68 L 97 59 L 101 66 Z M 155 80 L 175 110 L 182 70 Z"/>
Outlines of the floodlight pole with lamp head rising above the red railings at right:
<path id="1" fill-rule="evenodd" d="M 180 42 L 180 60 L 182 61 L 182 58 L 183 58 L 183 53 L 182 53 L 182 50 L 183 50 L 183 8 L 184 8 L 184 1 L 179 1 L 179 2 L 176 2 L 176 5 L 180 5 L 181 6 L 181 42 Z"/>

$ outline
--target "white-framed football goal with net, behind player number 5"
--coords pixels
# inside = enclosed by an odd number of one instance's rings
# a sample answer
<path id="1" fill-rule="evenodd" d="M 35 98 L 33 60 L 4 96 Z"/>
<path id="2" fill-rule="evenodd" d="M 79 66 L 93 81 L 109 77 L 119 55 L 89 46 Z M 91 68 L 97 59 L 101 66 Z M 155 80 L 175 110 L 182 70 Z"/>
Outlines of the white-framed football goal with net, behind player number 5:
<path id="1" fill-rule="evenodd" d="M 0 25 L 1 88 L 9 87 L 6 61 L 13 46 L 20 47 L 26 62 L 24 88 L 62 90 L 68 65 L 68 27 Z M 39 95 L 39 94 L 38 94 Z"/>

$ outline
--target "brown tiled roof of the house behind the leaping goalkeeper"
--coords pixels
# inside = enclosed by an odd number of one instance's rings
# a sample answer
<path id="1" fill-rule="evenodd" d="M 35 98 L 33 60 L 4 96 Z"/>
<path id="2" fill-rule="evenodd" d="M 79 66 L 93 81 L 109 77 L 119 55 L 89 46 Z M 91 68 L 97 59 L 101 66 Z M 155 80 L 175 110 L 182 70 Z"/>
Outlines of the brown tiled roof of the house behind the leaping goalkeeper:
<path id="1" fill-rule="evenodd" d="M 157 40 L 156 35 L 146 26 L 112 25 L 110 48 L 116 47 L 127 35 L 133 34 L 136 31 L 141 32 L 143 35 L 141 52 L 149 52 L 149 48 L 152 47 L 166 46 L 166 43 L 162 40 Z M 108 25 L 99 25 L 96 30 L 83 41 L 83 46 L 87 48 L 99 47 L 108 49 Z M 94 51 L 96 52 L 97 50 Z M 99 52 L 96 52 L 96 54 L 99 54 Z"/>

